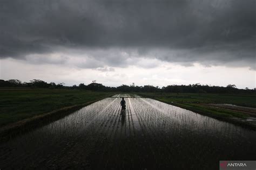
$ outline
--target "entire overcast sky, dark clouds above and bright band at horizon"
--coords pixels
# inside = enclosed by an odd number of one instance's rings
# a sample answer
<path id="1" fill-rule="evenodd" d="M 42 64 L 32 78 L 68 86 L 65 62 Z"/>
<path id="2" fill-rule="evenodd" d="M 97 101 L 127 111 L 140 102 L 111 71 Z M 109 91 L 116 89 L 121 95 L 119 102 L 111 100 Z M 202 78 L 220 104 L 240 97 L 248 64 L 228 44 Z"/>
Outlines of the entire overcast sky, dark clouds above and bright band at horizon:
<path id="1" fill-rule="evenodd" d="M 256 0 L 1 0 L 0 79 L 254 88 Z"/>

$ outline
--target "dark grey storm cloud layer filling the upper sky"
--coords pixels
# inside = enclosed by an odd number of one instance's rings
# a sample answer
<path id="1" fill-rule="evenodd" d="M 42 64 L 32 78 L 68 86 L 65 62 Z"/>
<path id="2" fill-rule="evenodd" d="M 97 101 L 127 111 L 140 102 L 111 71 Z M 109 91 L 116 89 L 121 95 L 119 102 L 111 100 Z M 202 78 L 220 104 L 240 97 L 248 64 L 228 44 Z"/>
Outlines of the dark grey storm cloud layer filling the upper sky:
<path id="1" fill-rule="evenodd" d="M 255 2 L 2 0 L 0 58 L 58 47 L 134 48 L 169 62 L 243 61 L 255 68 Z M 99 54 L 93 56 L 110 65 L 129 64 Z"/>

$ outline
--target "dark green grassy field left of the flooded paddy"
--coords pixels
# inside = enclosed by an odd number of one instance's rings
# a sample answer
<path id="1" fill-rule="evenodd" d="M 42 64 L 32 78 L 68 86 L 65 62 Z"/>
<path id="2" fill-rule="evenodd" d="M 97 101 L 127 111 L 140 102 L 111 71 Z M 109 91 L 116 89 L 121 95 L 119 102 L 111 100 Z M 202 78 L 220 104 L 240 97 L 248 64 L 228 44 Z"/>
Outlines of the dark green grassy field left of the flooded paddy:
<path id="1" fill-rule="evenodd" d="M 0 126 L 112 94 L 73 89 L 0 88 Z"/>

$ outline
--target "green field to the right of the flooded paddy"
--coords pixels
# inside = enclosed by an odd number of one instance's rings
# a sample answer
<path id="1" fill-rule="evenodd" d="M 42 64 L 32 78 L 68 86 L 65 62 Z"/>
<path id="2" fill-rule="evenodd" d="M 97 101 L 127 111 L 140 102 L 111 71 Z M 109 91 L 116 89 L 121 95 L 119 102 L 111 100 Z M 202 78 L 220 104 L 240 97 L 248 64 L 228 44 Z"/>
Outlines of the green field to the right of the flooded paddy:
<path id="1" fill-rule="evenodd" d="M 247 114 L 224 108 L 214 108 L 202 103 L 226 103 L 243 107 L 256 108 L 255 94 L 188 94 L 188 93 L 140 93 L 140 96 L 154 98 L 158 101 L 198 112 L 212 117 L 246 118 Z"/>

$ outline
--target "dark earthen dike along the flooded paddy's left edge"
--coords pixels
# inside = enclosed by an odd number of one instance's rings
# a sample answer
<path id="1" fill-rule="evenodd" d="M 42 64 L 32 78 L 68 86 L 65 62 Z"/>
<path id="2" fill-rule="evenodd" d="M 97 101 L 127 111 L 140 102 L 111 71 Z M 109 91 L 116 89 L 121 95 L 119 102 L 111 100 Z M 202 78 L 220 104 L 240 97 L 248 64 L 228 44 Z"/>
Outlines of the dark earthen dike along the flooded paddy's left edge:
<path id="1" fill-rule="evenodd" d="M 57 121 L 58 119 L 68 116 L 69 114 L 72 114 L 72 112 L 85 107 L 86 105 L 95 103 L 97 101 L 103 100 L 104 98 L 111 96 L 112 95 L 102 97 L 94 101 L 86 102 L 84 104 L 76 104 L 70 107 L 56 109 L 45 114 L 36 115 L 30 118 L 23 119 L 22 121 L 5 125 L 0 128 L 0 143 L 9 140 L 19 134 L 23 134 L 31 129 L 36 129 L 43 125 Z"/>

